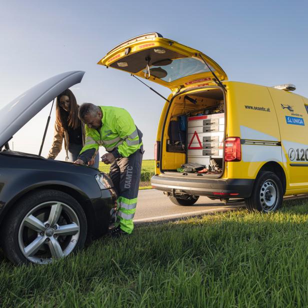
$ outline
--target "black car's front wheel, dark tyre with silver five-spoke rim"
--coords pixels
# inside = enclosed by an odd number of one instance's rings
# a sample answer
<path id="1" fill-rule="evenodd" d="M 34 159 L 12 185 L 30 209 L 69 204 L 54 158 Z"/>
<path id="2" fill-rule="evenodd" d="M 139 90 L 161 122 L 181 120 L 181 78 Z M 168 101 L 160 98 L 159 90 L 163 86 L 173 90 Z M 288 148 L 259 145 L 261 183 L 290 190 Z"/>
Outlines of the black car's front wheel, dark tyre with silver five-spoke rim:
<path id="1" fill-rule="evenodd" d="M 71 254 L 83 247 L 87 233 L 80 204 L 69 194 L 53 189 L 26 194 L 5 220 L 1 244 L 15 264 L 44 264 Z"/>

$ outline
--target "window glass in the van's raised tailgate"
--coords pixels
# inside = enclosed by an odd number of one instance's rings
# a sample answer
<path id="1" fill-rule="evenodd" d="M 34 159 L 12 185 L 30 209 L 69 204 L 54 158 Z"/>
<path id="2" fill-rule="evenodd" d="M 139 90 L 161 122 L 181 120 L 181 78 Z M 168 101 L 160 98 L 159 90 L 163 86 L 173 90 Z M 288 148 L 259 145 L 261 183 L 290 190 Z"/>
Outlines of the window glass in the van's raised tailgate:
<path id="1" fill-rule="evenodd" d="M 214 71 L 214 68 L 209 67 Z M 145 71 L 146 69 L 143 69 L 143 72 Z M 172 82 L 185 76 L 208 71 L 210 70 L 202 59 L 193 57 L 174 59 L 167 65 L 150 66 L 150 74 L 166 82 Z"/>

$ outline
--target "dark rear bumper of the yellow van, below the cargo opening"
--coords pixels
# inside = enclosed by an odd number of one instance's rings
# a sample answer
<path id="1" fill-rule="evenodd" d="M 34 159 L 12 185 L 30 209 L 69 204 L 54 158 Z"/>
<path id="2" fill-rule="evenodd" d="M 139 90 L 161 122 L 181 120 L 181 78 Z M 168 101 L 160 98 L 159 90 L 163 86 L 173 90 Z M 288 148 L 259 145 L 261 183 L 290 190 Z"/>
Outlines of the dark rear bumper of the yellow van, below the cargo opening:
<path id="1" fill-rule="evenodd" d="M 253 179 L 250 178 L 182 178 L 179 176 L 154 175 L 151 178 L 153 188 L 191 195 L 205 195 L 214 198 L 247 198 L 251 195 Z M 231 195 L 230 195 L 231 193 Z"/>

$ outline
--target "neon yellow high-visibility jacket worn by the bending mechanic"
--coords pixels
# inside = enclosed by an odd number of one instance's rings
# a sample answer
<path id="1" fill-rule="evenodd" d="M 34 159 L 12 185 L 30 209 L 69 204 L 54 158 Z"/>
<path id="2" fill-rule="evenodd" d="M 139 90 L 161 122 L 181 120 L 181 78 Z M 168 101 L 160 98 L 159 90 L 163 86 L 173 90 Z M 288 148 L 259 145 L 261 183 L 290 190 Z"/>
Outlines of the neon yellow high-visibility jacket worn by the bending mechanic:
<path id="1" fill-rule="evenodd" d="M 102 111 L 101 128 L 96 130 L 85 124 L 85 144 L 78 158 L 84 162 L 93 156 L 99 145 L 105 147 L 115 158 L 128 157 L 142 146 L 142 133 L 131 115 L 123 108 L 99 106 Z"/>

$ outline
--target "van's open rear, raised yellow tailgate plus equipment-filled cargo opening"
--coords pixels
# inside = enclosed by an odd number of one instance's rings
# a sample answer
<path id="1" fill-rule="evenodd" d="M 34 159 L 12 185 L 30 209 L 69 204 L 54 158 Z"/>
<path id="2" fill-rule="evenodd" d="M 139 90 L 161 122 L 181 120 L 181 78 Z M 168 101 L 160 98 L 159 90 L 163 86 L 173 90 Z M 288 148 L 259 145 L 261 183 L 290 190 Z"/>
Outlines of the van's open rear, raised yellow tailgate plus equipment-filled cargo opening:
<path id="1" fill-rule="evenodd" d="M 158 145 L 160 157 L 156 159 L 160 172 L 177 176 L 205 175 L 180 168 L 184 163 L 196 162 L 209 170 L 210 164 L 212 170 L 216 168 L 215 172 L 206 172 L 207 176 L 221 176 L 225 88 L 220 81 L 227 80 L 227 75 L 214 60 L 199 50 L 152 32 L 118 44 L 98 64 L 171 89 L 173 95 Z M 218 162 L 215 166 L 212 159 Z"/>

